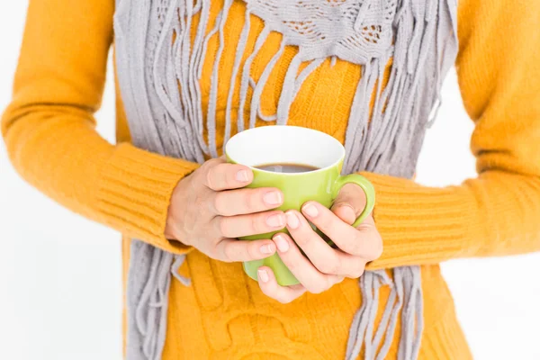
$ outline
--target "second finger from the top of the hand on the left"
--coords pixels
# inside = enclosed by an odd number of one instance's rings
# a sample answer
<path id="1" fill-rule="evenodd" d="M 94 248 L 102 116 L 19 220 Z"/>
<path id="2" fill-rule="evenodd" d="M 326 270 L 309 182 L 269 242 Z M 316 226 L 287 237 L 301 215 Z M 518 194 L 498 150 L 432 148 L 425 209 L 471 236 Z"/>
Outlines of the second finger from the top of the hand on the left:
<path id="1" fill-rule="evenodd" d="M 271 210 L 284 202 L 284 194 L 273 187 L 224 191 L 212 196 L 213 211 L 222 216 Z"/>

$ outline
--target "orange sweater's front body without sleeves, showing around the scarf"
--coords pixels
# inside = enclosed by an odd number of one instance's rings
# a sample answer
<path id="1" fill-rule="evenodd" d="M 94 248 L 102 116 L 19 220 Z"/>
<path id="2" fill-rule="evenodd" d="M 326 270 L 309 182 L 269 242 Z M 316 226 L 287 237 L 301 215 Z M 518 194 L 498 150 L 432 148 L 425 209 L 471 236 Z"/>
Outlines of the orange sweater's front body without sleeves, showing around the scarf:
<path id="1" fill-rule="evenodd" d="M 211 2 L 210 20 L 220 14 L 223 4 Z M 220 152 L 224 142 L 226 112 L 228 108 L 231 75 L 238 40 L 245 22 L 246 5 L 234 1 L 225 23 L 225 46 L 219 63 L 219 81 L 215 96 L 216 148 Z M 195 38 L 198 15 L 193 17 L 192 40 Z M 265 23 L 250 15 L 244 63 L 255 46 L 257 35 Z M 280 49 L 282 35 L 271 32 L 257 56 L 253 59 L 250 77 L 258 82 L 268 62 Z M 220 49 L 219 36 L 208 42 L 203 58 L 201 85 L 202 113 L 208 112 L 212 97 L 211 76 L 215 58 Z M 298 49 L 284 48 L 270 73 L 263 93 L 260 110 L 263 115 L 275 114 L 282 92 L 284 77 Z M 384 81 L 388 80 L 388 64 Z M 302 68 L 307 64 L 302 64 Z M 347 121 L 356 85 L 362 67 L 345 60 L 335 63 L 326 59 L 305 79 L 295 97 L 287 123 L 321 130 L 345 142 Z M 232 93 L 234 111 L 229 112 L 231 134 L 238 130 L 238 104 L 240 102 L 240 76 Z M 249 104 L 253 89 L 247 91 Z M 118 116 L 119 139 L 129 139 L 129 131 L 121 106 Z M 246 127 L 250 108 L 244 108 Z M 257 117 L 257 126 L 273 124 Z M 208 128 L 204 127 L 208 140 Z M 129 264 L 129 240 L 124 239 L 124 274 Z M 305 294 L 290 304 L 280 304 L 261 293 L 256 282 L 247 278 L 241 264 L 226 264 L 211 260 L 193 251 L 181 269 L 192 279 L 191 286 L 184 286 L 173 279 L 169 294 L 166 346 L 164 359 L 340 359 L 344 358 L 348 330 L 354 314 L 360 308 L 361 296 L 357 280 L 347 279 L 326 293 Z M 389 272 L 391 275 L 391 272 Z M 421 358 L 470 357 L 463 333 L 457 324 L 454 304 L 438 266 L 422 267 L 425 328 L 420 350 Z M 379 300 L 379 318 L 390 289 L 383 286 Z M 398 328 L 388 358 L 395 358 L 401 336 Z"/>

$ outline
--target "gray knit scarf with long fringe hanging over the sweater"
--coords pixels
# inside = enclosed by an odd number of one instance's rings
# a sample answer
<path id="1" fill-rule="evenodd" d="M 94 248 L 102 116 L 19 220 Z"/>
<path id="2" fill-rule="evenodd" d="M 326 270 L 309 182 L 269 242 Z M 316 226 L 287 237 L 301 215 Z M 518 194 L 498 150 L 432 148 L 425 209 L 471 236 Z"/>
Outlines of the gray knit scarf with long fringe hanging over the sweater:
<path id="1" fill-rule="evenodd" d="M 133 143 L 170 157 L 202 163 L 204 155 L 216 157 L 216 103 L 224 24 L 233 0 L 224 5 L 215 22 L 210 21 L 210 0 L 117 0 L 114 15 L 116 61 L 121 97 Z M 238 1 L 238 0 L 237 0 Z M 368 170 L 411 177 L 430 118 L 435 118 L 439 91 L 457 52 L 455 0 L 244 0 L 244 29 L 237 44 L 226 109 L 225 141 L 230 137 L 233 91 L 240 75 L 238 131 L 257 116 L 286 124 L 289 109 L 310 76 L 326 59 L 342 58 L 362 65 L 362 77 L 348 120 L 347 159 L 344 173 Z M 200 15 L 192 42 L 193 15 Z M 250 29 L 250 15 L 265 22 L 255 49 L 242 63 Z M 249 76 L 252 60 L 271 31 L 283 41 L 257 83 Z M 174 38 L 175 41 L 171 40 Z M 199 80 L 207 43 L 219 37 L 220 47 L 211 74 L 208 112 L 202 113 Z M 260 109 L 261 94 L 284 52 L 298 47 L 286 76 L 277 112 Z M 392 58 L 388 85 L 382 89 L 385 66 Z M 299 67 L 307 62 L 300 75 Z M 253 90 L 247 103 L 247 90 Z M 376 90 L 376 92 L 375 92 Z M 370 119 L 370 100 L 375 94 Z M 208 142 L 202 137 L 204 122 Z M 133 240 L 127 290 L 129 360 L 161 358 L 166 338 L 168 289 L 178 275 L 184 256 L 175 257 L 148 243 Z M 366 272 L 359 281 L 362 307 L 351 319 L 347 360 L 358 357 L 384 359 L 392 344 L 401 313 L 398 359 L 418 357 L 423 329 L 422 292 L 418 266 Z M 390 286 L 383 318 L 375 328 L 379 289 Z M 322 324 L 321 324 L 322 326 Z M 345 346 L 345 344 L 344 344 Z"/>

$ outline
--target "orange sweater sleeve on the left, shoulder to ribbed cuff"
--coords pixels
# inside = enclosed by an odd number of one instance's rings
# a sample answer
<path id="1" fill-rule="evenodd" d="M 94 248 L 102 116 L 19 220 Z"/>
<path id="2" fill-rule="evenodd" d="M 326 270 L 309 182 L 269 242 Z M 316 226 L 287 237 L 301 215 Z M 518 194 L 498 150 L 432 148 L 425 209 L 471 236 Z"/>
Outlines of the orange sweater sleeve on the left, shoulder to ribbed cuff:
<path id="1" fill-rule="evenodd" d="M 94 130 L 112 42 L 113 0 L 33 0 L 2 134 L 29 183 L 85 217 L 171 252 L 170 196 L 197 165 L 116 146 Z"/>

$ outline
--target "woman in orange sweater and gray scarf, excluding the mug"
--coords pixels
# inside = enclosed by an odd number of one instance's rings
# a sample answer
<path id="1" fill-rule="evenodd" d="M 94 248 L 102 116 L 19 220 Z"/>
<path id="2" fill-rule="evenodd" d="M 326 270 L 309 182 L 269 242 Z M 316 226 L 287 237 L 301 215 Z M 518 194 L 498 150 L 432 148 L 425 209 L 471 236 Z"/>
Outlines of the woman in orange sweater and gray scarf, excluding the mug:
<path id="1" fill-rule="evenodd" d="M 454 3 L 31 1 L 5 143 L 31 184 L 124 235 L 127 358 L 471 357 L 437 264 L 540 249 L 540 3 Z M 117 145 L 93 119 L 112 44 Z M 411 178 L 454 61 L 479 175 L 428 188 Z M 356 185 L 287 213 L 244 189 L 222 146 L 274 123 L 344 142 L 373 216 L 349 225 Z M 275 252 L 302 284 L 244 275 Z"/>

